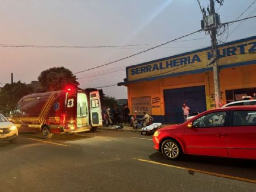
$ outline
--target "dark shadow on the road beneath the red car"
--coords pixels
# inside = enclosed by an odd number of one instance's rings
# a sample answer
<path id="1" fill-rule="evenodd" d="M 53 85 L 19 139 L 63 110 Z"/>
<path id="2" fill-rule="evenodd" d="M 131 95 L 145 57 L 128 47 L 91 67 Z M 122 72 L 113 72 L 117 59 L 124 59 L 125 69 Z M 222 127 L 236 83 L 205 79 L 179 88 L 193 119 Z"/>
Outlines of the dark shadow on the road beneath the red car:
<path id="1" fill-rule="evenodd" d="M 256 160 L 183 155 L 180 160 L 173 161 L 164 158 L 160 152 L 153 153 L 149 158 L 162 164 L 256 180 Z M 193 175 L 191 171 L 188 174 Z"/>

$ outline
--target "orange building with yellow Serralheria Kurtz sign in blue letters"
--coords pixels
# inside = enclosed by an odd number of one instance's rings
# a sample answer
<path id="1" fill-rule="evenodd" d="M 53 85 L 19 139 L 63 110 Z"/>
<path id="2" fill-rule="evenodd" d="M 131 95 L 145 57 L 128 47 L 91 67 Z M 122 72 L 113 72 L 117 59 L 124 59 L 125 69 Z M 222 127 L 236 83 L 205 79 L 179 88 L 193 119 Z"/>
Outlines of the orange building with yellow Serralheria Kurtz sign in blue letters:
<path id="1" fill-rule="evenodd" d="M 256 36 L 218 45 L 221 102 L 256 93 Z M 183 102 L 199 112 L 215 107 L 210 47 L 126 68 L 128 104 L 155 122 L 183 122 Z"/>

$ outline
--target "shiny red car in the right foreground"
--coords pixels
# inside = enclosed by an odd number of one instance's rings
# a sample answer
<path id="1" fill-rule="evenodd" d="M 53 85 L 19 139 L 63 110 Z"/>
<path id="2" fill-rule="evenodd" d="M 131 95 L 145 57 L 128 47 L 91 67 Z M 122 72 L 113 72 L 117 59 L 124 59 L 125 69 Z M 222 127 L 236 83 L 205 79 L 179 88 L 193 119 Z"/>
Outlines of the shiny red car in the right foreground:
<path id="1" fill-rule="evenodd" d="M 171 160 L 182 154 L 256 160 L 256 106 L 205 111 L 154 133 L 155 149 Z"/>

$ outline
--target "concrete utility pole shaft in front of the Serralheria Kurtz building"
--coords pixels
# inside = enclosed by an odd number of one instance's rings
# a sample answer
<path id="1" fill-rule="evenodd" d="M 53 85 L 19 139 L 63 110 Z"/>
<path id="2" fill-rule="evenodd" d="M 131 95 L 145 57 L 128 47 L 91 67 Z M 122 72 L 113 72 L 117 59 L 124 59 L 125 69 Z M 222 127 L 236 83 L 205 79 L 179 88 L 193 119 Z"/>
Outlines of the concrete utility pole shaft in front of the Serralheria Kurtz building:
<path id="1" fill-rule="evenodd" d="M 215 15 L 214 1 L 210 0 L 210 14 Z M 212 51 L 213 51 L 213 81 L 214 81 L 214 99 L 216 108 L 220 107 L 221 93 L 220 93 L 220 69 L 218 68 L 218 47 L 216 31 L 217 27 L 211 30 L 212 37 Z"/>

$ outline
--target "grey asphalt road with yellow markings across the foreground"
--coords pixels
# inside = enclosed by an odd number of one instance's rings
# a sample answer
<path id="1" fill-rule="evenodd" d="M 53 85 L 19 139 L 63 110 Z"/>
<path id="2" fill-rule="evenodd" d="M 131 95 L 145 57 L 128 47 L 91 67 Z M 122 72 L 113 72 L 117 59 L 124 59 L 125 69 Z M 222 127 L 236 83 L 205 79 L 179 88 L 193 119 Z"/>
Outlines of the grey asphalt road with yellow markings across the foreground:
<path id="1" fill-rule="evenodd" d="M 170 161 L 151 136 L 104 131 L 0 143 L 0 191 L 256 191 L 256 161 Z"/>

